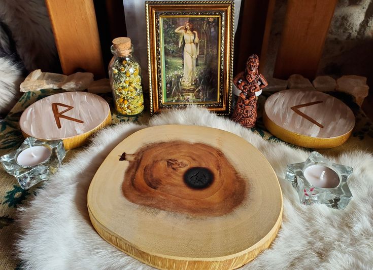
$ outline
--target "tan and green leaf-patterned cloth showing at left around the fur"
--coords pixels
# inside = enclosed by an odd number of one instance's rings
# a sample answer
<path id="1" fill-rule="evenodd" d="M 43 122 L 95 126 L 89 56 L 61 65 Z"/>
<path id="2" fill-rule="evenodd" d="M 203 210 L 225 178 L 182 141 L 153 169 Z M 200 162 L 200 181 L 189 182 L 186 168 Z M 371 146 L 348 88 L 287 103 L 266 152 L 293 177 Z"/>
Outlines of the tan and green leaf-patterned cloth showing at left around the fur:
<path id="1" fill-rule="evenodd" d="M 19 129 L 19 118 L 22 112 L 32 103 L 53 95 L 63 92 L 62 90 L 40 90 L 36 92 L 27 92 L 19 99 L 17 104 L 9 112 L 4 120 L 0 120 L 0 156 L 17 149 L 23 142 L 24 138 Z M 109 104 L 112 104 L 111 93 L 102 94 Z M 112 109 L 114 112 L 114 109 Z M 146 110 L 140 116 L 124 117 L 112 113 L 113 124 L 121 122 L 140 122 L 146 123 L 149 119 L 149 110 Z M 75 153 L 82 148 L 67 151 L 64 161 L 70 160 Z M 7 174 L 0 165 L 0 270 L 1 269 L 22 269 L 20 263 L 14 256 L 14 242 L 16 241 L 19 228 L 15 223 L 17 216 L 16 208 L 24 206 L 28 201 L 32 200 L 33 196 L 37 195 L 39 188 L 42 188 L 43 183 L 31 187 L 29 190 L 23 190 L 13 176 Z"/>

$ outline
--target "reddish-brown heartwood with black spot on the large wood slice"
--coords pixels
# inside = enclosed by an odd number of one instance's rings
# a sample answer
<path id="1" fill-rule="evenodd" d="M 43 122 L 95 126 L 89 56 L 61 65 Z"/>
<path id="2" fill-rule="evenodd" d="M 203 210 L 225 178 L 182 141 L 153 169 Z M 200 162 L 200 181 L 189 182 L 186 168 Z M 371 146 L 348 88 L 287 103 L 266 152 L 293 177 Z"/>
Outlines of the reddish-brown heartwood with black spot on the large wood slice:
<path id="1" fill-rule="evenodd" d="M 128 167 L 122 184 L 131 203 L 189 216 L 222 216 L 246 197 L 245 179 L 210 145 L 157 142 L 131 156 L 128 161 L 128 153 L 124 155 Z"/>

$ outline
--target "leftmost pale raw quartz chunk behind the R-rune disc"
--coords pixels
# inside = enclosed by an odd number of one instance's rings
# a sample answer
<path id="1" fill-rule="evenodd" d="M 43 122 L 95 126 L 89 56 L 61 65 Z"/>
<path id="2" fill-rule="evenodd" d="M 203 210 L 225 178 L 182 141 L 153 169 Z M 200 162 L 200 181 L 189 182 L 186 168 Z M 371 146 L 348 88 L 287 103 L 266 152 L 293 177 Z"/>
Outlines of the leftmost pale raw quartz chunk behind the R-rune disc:
<path id="1" fill-rule="evenodd" d="M 32 71 L 20 85 L 21 92 L 37 91 L 41 89 L 59 89 L 67 79 L 66 75 L 42 72 L 40 69 Z"/>

